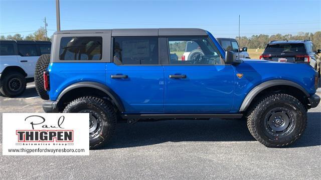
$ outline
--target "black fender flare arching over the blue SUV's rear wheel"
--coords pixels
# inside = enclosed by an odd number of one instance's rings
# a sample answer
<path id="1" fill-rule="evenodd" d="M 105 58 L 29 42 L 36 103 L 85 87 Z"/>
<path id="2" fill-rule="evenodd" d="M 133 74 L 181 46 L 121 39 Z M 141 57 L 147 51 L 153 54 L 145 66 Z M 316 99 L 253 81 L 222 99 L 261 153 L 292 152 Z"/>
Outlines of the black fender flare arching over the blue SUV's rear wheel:
<path id="1" fill-rule="evenodd" d="M 114 101 L 115 105 L 117 106 L 120 112 L 125 111 L 124 105 L 120 100 L 119 96 L 110 87 L 98 82 L 83 81 L 69 85 L 59 94 L 56 101 L 59 101 L 68 91 L 80 87 L 92 87 L 105 92 Z"/>

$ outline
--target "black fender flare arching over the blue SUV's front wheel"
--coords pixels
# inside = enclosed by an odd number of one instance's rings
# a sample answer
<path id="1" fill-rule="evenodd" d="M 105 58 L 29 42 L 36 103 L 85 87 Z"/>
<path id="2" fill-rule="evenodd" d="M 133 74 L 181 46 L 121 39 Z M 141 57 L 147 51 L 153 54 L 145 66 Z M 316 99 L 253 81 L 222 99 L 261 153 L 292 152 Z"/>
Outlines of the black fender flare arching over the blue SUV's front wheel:
<path id="1" fill-rule="evenodd" d="M 251 104 L 252 100 L 255 98 L 255 96 L 260 93 L 262 90 L 276 86 L 276 85 L 288 85 L 288 86 L 293 86 L 298 89 L 300 89 L 307 97 L 310 96 L 310 94 L 299 84 L 292 82 L 290 80 L 282 80 L 282 79 L 276 79 L 276 80 L 268 80 L 263 83 L 260 83 L 259 85 L 255 86 L 244 98 L 242 105 L 239 109 L 239 111 L 245 111 L 248 106 Z"/>

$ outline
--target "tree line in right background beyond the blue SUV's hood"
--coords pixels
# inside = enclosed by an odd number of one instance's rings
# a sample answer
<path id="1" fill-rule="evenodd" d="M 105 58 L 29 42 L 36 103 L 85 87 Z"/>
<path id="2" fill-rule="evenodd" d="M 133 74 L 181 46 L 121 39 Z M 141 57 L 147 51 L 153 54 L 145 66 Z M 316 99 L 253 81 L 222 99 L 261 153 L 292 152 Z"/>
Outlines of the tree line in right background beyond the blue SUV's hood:
<path id="1" fill-rule="evenodd" d="M 235 37 L 238 40 L 238 36 Z M 265 48 L 266 44 L 271 40 L 312 40 L 315 48 L 321 49 L 321 31 L 317 32 L 299 32 L 297 35 L 292 34 L 274 34 L 274 35 L 252 35 L 251 37 L 241 36 L 239 40 L 240 47 L 248 48 Z"/>

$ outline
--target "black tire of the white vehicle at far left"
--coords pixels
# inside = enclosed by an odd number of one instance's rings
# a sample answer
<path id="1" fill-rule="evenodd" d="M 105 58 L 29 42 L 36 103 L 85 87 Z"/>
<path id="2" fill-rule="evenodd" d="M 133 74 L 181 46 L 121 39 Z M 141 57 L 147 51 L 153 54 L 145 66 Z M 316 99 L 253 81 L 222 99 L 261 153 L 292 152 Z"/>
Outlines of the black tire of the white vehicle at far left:
<path id="1" fill-rule="evenodd" d="M 16 82 L 15 82 L 16 81 Z M 18 83 L 19 88 L 17 90 L 11 90 L 10 84 Z M 27 85 L 26 77 L 20 72 L 9 72 L 4 74 L 1 80 L 0 92 L 6 97 L 16 97 L 25 92 Z"/>

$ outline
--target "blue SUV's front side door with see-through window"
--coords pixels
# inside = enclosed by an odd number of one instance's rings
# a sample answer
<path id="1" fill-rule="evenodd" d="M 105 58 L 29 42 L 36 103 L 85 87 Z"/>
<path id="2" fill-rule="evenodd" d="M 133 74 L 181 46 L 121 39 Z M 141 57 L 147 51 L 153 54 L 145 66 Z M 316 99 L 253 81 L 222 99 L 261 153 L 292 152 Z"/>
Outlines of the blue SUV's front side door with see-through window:
<path id="1" fill-rule="evenodd" d="M 198 46 L 184 60 L 185 44 Z M 165 71 L 165 112 L 228 112 L 233 105 L 234 67 L 224 64 L 208 37 L 169 37 Z"/>

